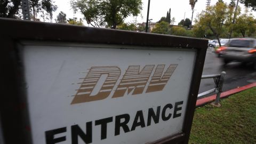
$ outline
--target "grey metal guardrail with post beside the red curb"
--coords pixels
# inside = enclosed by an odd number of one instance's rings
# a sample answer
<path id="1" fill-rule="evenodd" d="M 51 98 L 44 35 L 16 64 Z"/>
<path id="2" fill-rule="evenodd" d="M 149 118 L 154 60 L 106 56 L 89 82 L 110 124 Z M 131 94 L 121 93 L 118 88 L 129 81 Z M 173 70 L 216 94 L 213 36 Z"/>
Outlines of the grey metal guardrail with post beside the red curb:
<path id="1" fill-rule="evenodd" d="M 225 75 L 226 75 L 225 71 L 222 71 L 220 74 L 203 75 L 201 79 L 213 78 L 215 85 L 214 85 L 213 89 L 198 94 L 197 99 L 200 98 L 200 97 L 203 97 L 207 94 L 210 94 L 212 92 L 215 92 L 217 94 L 216 99 L 215 99 L 215 105 L 218 105 L 219 102 L 220 102 L 220 94 L 222 92 L 222 86 L 223 86 L 223 83 L 224 83 Z"/>

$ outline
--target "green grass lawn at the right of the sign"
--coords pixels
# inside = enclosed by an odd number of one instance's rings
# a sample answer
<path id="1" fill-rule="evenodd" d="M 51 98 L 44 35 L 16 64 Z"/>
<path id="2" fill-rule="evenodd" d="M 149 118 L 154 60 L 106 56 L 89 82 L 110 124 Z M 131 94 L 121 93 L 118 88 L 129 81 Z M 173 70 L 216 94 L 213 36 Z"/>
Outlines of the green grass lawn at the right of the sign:
<path id="1" fill-rule="evenodd" d="M 256 87 L 195 111 L 189 143 L 256 143 Z"/>

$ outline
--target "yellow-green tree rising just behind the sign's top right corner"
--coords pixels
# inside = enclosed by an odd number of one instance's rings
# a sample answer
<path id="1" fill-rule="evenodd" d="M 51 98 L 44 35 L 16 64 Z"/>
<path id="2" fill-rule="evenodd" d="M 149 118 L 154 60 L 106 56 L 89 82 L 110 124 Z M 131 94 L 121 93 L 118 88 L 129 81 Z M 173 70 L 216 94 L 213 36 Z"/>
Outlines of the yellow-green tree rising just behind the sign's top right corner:
<path id="1" fill-rule="evenodd" d="M 218 39 L 220 44 L 220 36 L 225 32 L 225 21 L 227 20 L 227 4 L 218 2 L 214 6 L 207 7 L 207 12 L 203 11 L 198 15 L 196 27 L 202 29 L 209 28 L 213 35 Z M 221 44 L 220 44 L 221 46 Z"/>

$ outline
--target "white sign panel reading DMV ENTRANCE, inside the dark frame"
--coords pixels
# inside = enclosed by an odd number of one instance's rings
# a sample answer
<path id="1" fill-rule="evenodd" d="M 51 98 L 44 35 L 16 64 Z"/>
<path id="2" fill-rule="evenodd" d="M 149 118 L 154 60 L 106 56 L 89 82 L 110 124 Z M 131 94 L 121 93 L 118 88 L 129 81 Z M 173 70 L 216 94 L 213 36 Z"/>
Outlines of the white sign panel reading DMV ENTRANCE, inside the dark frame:
<path id="1" fill-rule="evenodd" d="M 182 131 L 196 51 L 119 48 L 23 46 L 33 143 L 147 143 Z"/>

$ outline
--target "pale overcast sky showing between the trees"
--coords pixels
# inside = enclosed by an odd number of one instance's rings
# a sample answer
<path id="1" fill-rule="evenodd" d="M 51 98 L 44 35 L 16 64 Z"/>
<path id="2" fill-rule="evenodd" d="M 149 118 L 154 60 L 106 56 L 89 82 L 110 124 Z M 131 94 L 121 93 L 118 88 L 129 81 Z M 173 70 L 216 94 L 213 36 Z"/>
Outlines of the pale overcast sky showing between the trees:
<path id="1" fill-rule="evenodd" d="M 211 5 L 214 5 L 218 0 L 211 0 Z M 227 4 L 230 0 L 224 0 Z M 142 11 L 141 15 L 137 17 L 137 23 L 146 22 L 147 20 L 147 6 L 148 0 L 142 0 Z M 63 11 L 67 14 L 68 18 L 83 18 L 83 15 L 79 12 L 74 14 L 70 7 L 70 0 L 55 0 L 55 5 L 58 6 L 58 10 L 53 13 L 53 19 L 56 19 L 58 13 Z M 239 6 L 244 7 L 243 4 L 239 3 Z M 196 18 L 197 13 L 205 10 L 206 0 L 198 0 L 195 5 L 194 18 Z M 185 14 L 185 18 L 191 19 L 191 6 L 189 5 L 189 0 L 151 0 L 149 19 L 153 19 L 153 22 L 158 21 L 161 17 L 166 17 L 167 11 L 171 8 L 171 17 L 175 18 L 175 25 L 178 24 Z M 254 17 L 256 17 L 256 12 L 253 12 Z M 141 17 L 142 16 L 142 17 Z M 135 22 L 135 17 L 126 18 L 125 22 Z M 86 24 L 86 22 L 84 22 Z"/>

